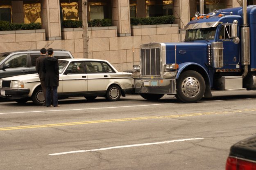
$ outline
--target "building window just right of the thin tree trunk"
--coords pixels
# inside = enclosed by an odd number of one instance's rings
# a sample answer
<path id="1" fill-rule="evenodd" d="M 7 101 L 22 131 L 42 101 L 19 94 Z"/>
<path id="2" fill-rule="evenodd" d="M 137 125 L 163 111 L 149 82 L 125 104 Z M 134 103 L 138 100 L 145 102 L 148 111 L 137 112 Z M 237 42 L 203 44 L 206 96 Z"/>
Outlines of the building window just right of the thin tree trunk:
<path id="1" fill-rule="evenodd" d="M 89 18 L 106 19 L 112 18 L 111 0 L 93 0 L 89 2 Z"/>

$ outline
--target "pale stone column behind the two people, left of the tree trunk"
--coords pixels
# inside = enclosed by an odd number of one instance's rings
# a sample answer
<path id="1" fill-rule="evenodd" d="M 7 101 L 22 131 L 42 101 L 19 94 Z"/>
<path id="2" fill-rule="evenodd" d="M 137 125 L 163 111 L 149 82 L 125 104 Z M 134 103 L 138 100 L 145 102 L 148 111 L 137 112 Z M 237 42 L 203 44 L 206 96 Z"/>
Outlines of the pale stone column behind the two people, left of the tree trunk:
<path id="1" fill-rule="evenodd" d="M 61 40 L 59 0 L 41 0 L 42 29 L 46 40 Z"/>

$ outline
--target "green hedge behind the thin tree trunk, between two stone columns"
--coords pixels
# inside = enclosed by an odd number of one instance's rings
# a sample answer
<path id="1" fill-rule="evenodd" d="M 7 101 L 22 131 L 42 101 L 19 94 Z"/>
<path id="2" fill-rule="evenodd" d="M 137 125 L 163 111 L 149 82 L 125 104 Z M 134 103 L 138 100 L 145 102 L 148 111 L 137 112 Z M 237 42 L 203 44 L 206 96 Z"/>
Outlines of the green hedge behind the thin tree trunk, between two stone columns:
<path id="1" fill-rule="evenodd" d="M 88 27 L 99 27 L 99 26 L 112 26 L 111 19 L 94 19 L 88 21 Z M 62 21 L 63 28 L 82 28 L 83 22 L 76 20 L 63 20 Z"/>

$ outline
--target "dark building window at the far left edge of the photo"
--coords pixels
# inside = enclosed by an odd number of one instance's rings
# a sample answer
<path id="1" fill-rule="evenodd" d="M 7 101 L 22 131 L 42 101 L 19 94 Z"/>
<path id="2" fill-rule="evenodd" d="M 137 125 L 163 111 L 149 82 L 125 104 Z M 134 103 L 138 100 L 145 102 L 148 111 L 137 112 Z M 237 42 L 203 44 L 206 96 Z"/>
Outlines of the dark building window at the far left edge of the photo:
<path id="1" fill-rule="evenodd" d="M 11 1 L 7 1 L 7 0 L 0 1 L 0 21 L 12 22 Z"/>

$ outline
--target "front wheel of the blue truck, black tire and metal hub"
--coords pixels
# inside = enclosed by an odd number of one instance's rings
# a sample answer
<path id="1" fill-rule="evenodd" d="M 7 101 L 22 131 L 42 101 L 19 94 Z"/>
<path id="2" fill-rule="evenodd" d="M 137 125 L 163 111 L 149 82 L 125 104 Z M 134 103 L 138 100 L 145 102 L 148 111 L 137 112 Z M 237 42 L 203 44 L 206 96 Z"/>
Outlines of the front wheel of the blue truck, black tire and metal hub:
<path id="1" fill-rule="evenodd" d="M 198 102 L 204 96 L 204 78 L 196 71 L 185 71 L 179 76 L 176 88 L 178 100 L 184 103 Z"/>

